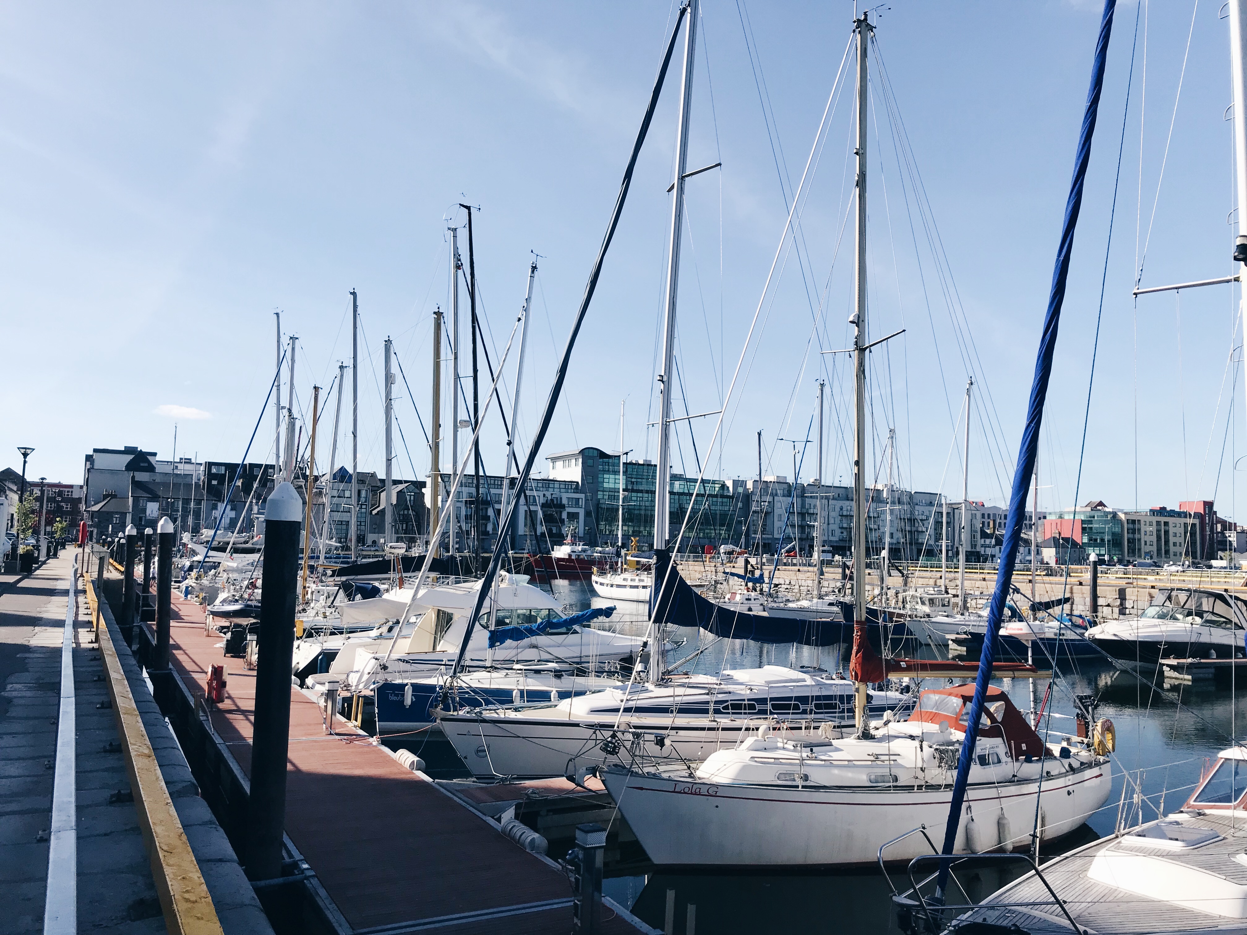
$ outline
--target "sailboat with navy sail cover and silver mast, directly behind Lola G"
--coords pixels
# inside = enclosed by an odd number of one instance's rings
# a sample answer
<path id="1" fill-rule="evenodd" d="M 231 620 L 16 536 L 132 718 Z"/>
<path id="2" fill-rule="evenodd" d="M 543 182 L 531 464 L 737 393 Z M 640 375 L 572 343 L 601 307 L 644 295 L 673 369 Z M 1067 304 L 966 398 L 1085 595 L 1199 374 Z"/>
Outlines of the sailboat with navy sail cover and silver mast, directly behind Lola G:
<path id="1" fill-rule="evenodd" d="M 688 145 L 688 110 L 692 89 L 693 42 L 697 35 L 698 0 L 681 7 L 687 16 L 685 34 L 683 96 L 680 108 L 676 198 L 671 218 L 671 249 L 667 261 L 666 338 L 663 373 L 672 373 L 675 347 L 675 300 L 680 272 L 680 232 L 683 181 Z M 678 24 L 677 24 L 678 30 Z M 670 383 L 662 381 L 658 470 L 655 505 L 655 542 L 668 544 L 670 524 Z M 622 449 L 622 445 L 621 445 Z M 670 623 L 672 605 L 718 607 L 697 595 L 671 565 L 666 547 L 655 550 L 653 582 L 662 582 L 652 596 L 650 623 L 661 633 Z M 691 598 L 688 596 L 692 596 Z M 717 615 L 718 611 L 715 611 Z M 723 620 L 749 620 L 751 615 L 722 612 Z M 806 642 L 829 646 L 843 641 L 840 621 L 802 621 L 758 617 L 758 625 L 742 625 L 736 638 L 759 642 Z M 642 654 L 643 658 L 645 654 Z M 617 763 L 620 754 L 646 755 L 686 763 L 712 752 L 734 747 L 738 739 L 763 721 L 801 724 L 803 729 L 837 728 L 853 718 L 854 698 L 877 716 L 904 713 L 913 697 L 899 692 L 867 694 L 822 669 L 791 669 L 764 666 L 761 669 L 725 669 L 717 677 L 673 674 L 665 669 L 662 653 L 653 650 L 645 662 L 645 681 L 625 687 L 587 693 L 579 698 L 539 706 L 494 706 L 473 711 L 440 711 L 438 721 L 468 768 L 480 778 L 565 775 L 576 769 Z M 677 666 L 671 667 L 678 668 Z M 642 669 L 637 669 L 640 672 Z"/>

